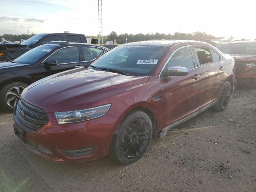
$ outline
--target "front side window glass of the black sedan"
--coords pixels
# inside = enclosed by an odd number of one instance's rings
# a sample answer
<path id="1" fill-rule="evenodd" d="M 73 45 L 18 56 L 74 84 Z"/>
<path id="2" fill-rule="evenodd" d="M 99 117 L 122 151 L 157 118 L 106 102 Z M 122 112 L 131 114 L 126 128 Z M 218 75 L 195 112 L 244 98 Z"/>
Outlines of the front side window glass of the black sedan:
<path id="1" fill-rule="evenodd" d="M 56 60 L 57 64 L 79 62 L 79 48 L 67 47 L 60 49 L 52 54 L 47 60 Z"/>

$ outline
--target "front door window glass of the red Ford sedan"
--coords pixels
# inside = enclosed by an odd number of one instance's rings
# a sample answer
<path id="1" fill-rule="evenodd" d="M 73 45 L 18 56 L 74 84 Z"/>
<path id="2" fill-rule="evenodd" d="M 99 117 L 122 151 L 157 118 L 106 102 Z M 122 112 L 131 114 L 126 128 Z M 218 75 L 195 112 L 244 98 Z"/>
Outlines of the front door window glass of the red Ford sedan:
<path id="1" fill-rule="evenodd" d="M 182 66 L 188 69 L 194 68 L 194 61 L 189 47 L 181 48 L 172 55 L 166 68 L 174 66 Z"/>

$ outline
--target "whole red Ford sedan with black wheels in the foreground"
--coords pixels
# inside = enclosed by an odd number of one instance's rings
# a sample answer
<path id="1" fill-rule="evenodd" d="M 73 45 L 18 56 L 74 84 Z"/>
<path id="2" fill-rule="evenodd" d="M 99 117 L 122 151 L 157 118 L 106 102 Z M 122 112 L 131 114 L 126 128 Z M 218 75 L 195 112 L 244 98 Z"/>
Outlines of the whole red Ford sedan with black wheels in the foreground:
<path id="1" fill-rule="evenodd" d="M 53 161 L 110 155 L 122 164 L 142 157 L 151 138 L 212 107 L 225 110 L 234 59 L 198 41 L 120 45 L 88 68 L 28 86 L 14 111 L 14 132 Z"/>

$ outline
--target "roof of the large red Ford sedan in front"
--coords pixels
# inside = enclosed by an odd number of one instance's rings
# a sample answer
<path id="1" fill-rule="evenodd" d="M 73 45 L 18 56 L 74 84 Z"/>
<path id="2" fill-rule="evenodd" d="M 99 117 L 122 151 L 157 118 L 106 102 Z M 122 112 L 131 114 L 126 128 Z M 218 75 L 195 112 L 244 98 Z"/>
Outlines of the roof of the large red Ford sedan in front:
<path id="1" fill-rule="evenodd" d="M 148 41 L 139 41 L 139 42 L 132 42 L 123 45 L 146 45 L 146 46 L 162 46 L 162 47 L 170 47 L 177 43 L 183 42 L 199 42 L 199 41 L 190 41 L 190 40 L 148 40 Z"/>

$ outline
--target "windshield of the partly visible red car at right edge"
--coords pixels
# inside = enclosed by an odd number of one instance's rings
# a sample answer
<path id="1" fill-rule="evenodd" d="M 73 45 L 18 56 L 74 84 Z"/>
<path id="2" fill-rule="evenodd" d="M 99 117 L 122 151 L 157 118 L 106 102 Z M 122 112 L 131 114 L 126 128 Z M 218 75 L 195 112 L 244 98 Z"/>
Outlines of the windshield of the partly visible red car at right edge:
<path id="1" fill-rule="evenodd" d="M 231 43 L 220 50 L 224 54 L 256 55 L 256 43 Z"/>

